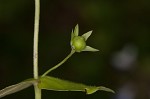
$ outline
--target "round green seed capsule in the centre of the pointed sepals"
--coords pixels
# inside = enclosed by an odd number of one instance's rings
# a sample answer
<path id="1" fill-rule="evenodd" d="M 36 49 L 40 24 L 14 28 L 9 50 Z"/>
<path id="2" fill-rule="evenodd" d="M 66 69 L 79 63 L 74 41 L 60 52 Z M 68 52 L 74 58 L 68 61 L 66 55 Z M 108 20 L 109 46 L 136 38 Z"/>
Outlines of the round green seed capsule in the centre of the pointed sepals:
<path id="1" fill-rule="evenodd" d="M 82 36 L 75 36 L 72 38 L 71 45 L 76 52 L 81 52 L 86 47 L 85 38 Z"/>

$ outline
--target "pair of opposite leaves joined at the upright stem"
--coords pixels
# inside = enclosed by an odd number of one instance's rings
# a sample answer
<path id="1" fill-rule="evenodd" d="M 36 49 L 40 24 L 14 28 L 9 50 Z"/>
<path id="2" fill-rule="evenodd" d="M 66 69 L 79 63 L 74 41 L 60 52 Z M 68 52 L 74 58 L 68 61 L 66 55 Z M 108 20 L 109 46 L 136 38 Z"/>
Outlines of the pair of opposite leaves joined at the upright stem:
<path id="1" fill-rule="evenodd" d="M 92 94 L 98 90 L 102 90 L 102 91 L 114 93 L 113 90 L 103 86 L 98 86 L 98 87 L 87 86 L 81 83 L 74 83 L 71 81 L 62 80 L 51 76 L 44 76 L 44 77 L 40 77 L 39 80 L 28 79 L 18 84 L 6 87 L 0 90 L 0 98 L 21 91 L 34 84 L 38 84 L 38 87 L 40 89 L 53 90 L 53 91 L 82 91 L 82 92 L 86 92 L 86 94 Z"/>

